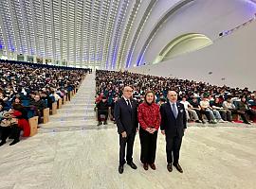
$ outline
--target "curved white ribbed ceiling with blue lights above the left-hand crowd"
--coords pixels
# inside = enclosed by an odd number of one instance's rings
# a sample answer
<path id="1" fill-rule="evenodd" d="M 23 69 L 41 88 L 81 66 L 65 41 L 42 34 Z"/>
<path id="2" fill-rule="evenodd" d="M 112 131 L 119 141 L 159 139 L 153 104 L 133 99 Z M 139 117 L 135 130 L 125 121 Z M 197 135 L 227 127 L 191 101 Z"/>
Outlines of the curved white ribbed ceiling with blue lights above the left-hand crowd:
<path id="1" fill-rule="evenodd" d="M 129 67 L 168 10 L 187 1 L 1 0 L 0 51 L 70 66 Z"/>

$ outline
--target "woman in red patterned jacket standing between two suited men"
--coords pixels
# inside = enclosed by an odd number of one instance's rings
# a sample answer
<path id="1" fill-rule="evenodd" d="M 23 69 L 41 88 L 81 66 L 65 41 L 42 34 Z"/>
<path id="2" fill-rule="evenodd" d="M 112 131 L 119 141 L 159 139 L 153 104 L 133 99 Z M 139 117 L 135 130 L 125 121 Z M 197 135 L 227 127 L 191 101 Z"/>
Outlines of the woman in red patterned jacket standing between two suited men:
<path id="1" fill-rule="evenodd" d="M 155 170 L 155 151 L 157 130 L 161 122 L 159 106 L 155 104 L 155 94 L 149 91 L 144 102 L 138 106 L 137 119 L 139 123 L 140 161 L 145 170 L 150 167 Z"/>

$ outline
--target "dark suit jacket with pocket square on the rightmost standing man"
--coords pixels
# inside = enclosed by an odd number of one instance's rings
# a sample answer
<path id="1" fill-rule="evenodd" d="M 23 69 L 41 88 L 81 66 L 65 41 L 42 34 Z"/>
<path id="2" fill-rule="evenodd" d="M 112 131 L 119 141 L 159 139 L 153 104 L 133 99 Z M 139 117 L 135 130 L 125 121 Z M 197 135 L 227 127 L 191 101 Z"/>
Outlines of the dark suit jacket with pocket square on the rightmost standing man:
<path id="1" fill-rule="evenodd" d="M 169 136 L 183 136 L 184 129 L 187 129 L 187 115 L 185 112 L 184 105 L 177 102 L 177 118 L 174 117 L 170 102 L 163 104 L 160 107 L 161 113 L 161 125 L 160 129 L 165 130 L 167 137 Z"/>

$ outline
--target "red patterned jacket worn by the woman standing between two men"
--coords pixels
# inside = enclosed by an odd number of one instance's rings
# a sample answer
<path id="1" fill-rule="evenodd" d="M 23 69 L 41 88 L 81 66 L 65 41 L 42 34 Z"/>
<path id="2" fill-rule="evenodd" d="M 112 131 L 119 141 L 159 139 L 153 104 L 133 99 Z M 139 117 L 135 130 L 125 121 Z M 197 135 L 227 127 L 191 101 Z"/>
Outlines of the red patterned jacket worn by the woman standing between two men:
<path id="1" fill-rule="evenodd" d="M 137 120 L 142 129 L 148 127 L 159 129 L 161 123 L 159 106 L 155 103 L 152 105 L 148 105 L 146 102 L 141 103 L 137 110 Z"/>

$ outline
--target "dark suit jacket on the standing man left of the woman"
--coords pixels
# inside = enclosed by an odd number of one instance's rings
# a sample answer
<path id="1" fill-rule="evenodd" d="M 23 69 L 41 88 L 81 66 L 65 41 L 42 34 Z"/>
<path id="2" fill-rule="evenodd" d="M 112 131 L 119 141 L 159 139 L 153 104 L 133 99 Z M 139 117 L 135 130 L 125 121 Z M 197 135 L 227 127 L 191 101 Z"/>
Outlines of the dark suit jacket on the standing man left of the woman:
<path id="1" fill-rule="evenodd" d="M 130 100 L 132 109 L 128 107 L 125 99 L 120 98 L 115 105 L 114 116 L 118 126 L 119 134 L 126 131 L 127 134 L 136 132 L 138 127 L 137 122 L 137 101 Z"/>

